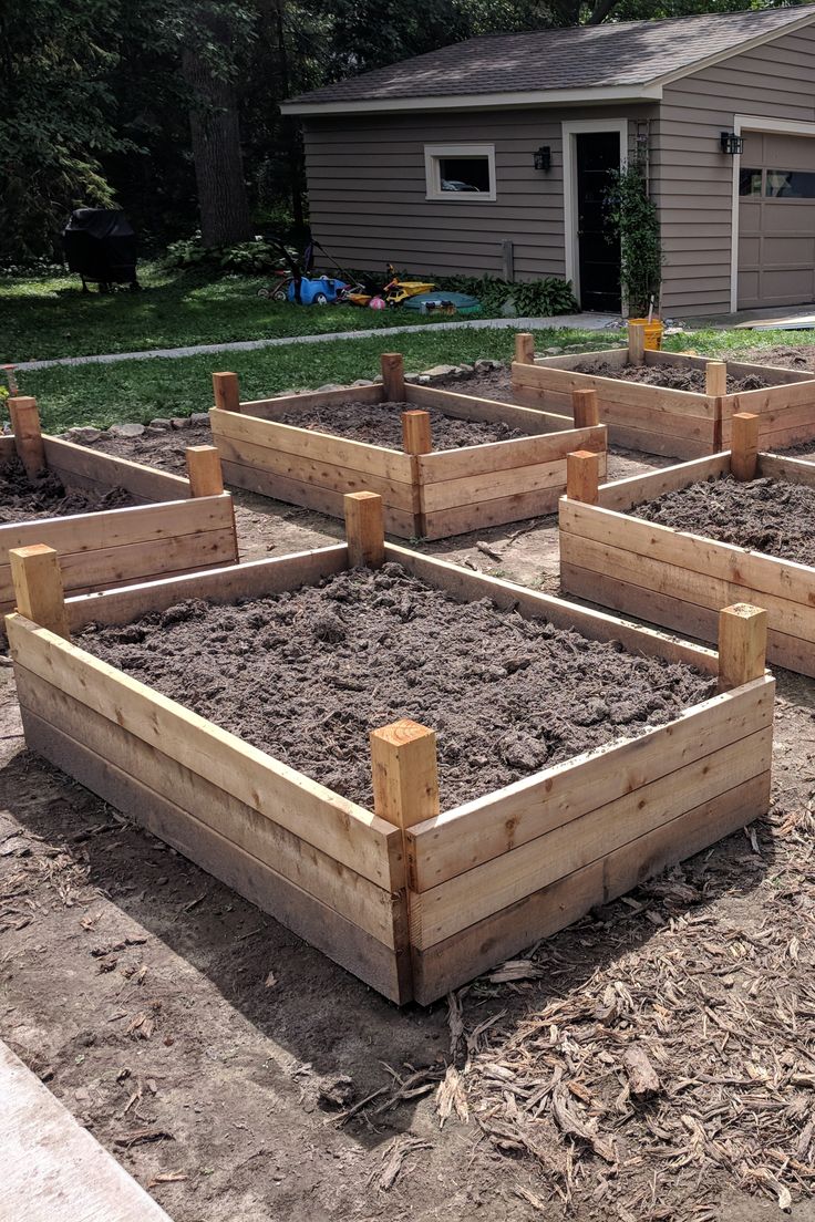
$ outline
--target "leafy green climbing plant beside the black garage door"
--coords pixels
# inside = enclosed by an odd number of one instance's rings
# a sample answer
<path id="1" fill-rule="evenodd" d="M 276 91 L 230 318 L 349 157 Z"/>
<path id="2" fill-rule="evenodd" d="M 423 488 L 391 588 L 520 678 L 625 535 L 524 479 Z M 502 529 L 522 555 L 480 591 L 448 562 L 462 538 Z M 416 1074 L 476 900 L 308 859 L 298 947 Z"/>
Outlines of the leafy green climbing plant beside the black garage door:
<path id="1" fill-rule="evenodd" d="M 643 167 L 632 163 L 612 172 L 606 194 L 607 238 L 619 242 L 619 280 L 632 318 L 644 318 L 659 302 L 662 282 L 662 241 L 656 205 Z"/>

